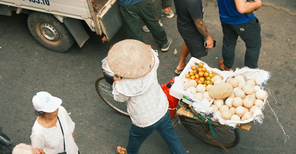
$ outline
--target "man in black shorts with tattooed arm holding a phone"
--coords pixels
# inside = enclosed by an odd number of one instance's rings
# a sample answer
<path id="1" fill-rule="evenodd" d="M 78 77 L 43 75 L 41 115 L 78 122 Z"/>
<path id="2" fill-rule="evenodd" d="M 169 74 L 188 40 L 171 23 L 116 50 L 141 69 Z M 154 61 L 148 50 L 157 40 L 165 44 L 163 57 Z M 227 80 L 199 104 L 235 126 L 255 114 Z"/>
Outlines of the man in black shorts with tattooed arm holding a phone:
<path id="1" fill-rule="evenodd" d="M 202 0 L 174 0 L 177 27 L 184 40 L 180 61 L 175 73 L 180 74 L 186 66 L 186 57 L 190 55 L 200 59 L 207 55 L 207 49 L 213 48 L 213 39 L 203 22 Z M 204 47 L 204 38 L 207 47 Z"/>

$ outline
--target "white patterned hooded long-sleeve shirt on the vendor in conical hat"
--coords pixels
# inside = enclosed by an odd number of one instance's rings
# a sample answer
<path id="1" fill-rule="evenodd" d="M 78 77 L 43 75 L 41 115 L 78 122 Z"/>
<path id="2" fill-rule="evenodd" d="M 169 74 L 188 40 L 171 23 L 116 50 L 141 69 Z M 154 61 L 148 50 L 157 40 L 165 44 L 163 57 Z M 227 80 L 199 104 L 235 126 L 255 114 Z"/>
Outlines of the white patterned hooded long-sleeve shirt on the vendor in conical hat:
<path id="1" fill-rule="evenodd" d="M 114 99 L 119 102 L 127 101 L 128 113 L 133 124 L 138 127 L 154 124 L 168 110 L 168 99 L 157 81 L 158 54 L 153 53 L 155 65 L 149 73 L 140 78 L 122 78 L 113 83 Z"/>

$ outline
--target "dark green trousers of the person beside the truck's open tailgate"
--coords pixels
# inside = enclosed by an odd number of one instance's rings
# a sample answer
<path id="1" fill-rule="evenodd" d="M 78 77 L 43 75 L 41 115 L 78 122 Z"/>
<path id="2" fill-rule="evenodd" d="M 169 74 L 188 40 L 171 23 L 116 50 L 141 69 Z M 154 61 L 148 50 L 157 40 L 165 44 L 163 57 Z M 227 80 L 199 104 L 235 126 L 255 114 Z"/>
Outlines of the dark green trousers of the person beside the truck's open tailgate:
<path id="1" fill-rule="evenodd" d="M 120 6 L 120 12 L 133 40 L 144 42 L 140 27 L 141 17 L 157 44 L 162 46 L 168 41 L 165 30 L 160 26 L 154 14 L 151 0 L 144 0 L 128 7 Z"/>

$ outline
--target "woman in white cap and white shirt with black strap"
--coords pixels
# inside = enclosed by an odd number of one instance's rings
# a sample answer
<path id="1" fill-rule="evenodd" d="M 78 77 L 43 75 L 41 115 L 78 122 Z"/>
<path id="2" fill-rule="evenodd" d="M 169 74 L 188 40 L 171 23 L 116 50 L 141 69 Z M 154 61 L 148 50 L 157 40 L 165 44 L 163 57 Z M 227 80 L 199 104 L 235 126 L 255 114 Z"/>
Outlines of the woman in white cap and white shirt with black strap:
<path id="1" fill-rule="evenodd" d="M 41 91 L 35 94 L 32 102 L 38 116 L 30 136 L 32 147 L 41 148 L 46 154 L 79 154 L 73 136 L 75 123 L 60 106 L 62 100 Z"/>

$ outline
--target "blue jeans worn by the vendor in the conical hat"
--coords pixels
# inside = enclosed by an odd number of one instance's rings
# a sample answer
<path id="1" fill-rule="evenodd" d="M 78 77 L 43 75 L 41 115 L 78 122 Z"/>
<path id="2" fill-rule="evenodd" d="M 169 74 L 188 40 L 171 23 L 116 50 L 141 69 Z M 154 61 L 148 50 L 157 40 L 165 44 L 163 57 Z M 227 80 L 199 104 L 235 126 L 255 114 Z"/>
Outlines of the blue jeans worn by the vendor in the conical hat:
<path id="1" fill-rule="evenodd" d="M 155 124 L 152 124 L 151 126 L 142 128 L 134 124 L 131 125 L 131 129 L 129 130 L 128 146 L 126 148 L 127 153 L 139 153 L 139 148 L 141 144 L 154 130 L 156 130 L 165 140 L 171 153 L 185 154 L 184 146 L 178 139 L 172 126 L 169 110 L 160 120 L 158 120 Z"/>

